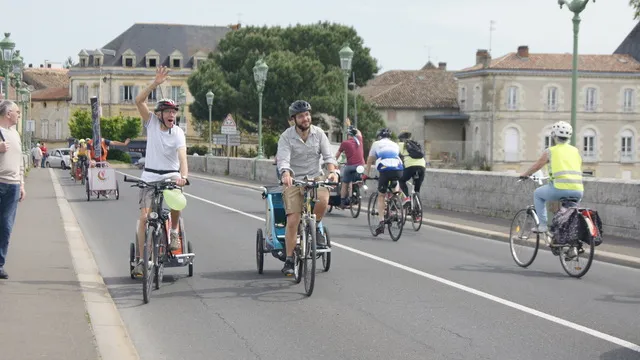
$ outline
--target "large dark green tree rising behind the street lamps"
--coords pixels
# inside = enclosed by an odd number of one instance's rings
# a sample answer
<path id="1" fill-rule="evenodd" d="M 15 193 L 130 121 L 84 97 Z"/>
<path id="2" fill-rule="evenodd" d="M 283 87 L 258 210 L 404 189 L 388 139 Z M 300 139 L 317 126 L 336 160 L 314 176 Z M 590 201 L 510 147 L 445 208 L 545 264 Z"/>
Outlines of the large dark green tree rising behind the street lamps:
<path id="1" fill-rule="evenodd" d="M 246 27 L 230 32 L 218 45 L 216 54 L 210 55 L 188 80 L 196 99 L 190 106 L 193 118 L 208 122 L 206 93 L 212 90 L 214 120 L 231 113 L 240 129 L 257 131 L 258 94 L 253 67 L 260 57 L 269 66 L 263 96 L 263 130 L 283 131 L 288 126 L 289 104 L 297 99 L 308 100 L 314 115 L 326 113 L 342 118 L 344 78 L 338 53 L 345 43 L 354 51 L 357 82 L 364 85 L 377 73 L 378 65 L 352 27 L 325 22 L 288 28 Z M 316 124 L 325 128 L 327 125 Z M 202 127 L 208 129 L 208 124 Z"/>

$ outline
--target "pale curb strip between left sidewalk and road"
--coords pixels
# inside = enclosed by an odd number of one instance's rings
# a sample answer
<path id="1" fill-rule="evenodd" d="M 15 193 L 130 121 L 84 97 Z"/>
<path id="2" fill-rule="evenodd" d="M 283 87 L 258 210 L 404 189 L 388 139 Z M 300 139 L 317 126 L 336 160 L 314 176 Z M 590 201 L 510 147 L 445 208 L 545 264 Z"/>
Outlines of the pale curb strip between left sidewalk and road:
<path id="1" fill-rule="evenodd" d="M 49 169 L 49 174 L 60 208 L 73 268 L 82 288 L 100 358 L 102 360 L 138 360 L 140 356 L 100 275 L 78 220 L 64 196 L 58 175 L 52 168 Z"/>

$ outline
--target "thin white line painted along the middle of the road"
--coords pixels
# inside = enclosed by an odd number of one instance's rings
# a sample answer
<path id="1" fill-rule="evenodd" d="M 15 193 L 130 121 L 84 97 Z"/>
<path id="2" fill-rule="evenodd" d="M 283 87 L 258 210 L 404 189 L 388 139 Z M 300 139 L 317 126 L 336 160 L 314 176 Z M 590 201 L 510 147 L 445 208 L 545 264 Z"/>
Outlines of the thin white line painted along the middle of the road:
<path id="1" fill-rule="evenodd" d="M 122 173 L 122 172 L 119 172 L 119 173 L 123 174 L 123 175 L 130 176 L 130 177 L 135 178 L 135 179 L 139 179 L 136 176 L 125 174 L 125 173 Z M 244 211 L 241 211 L 241 210 L 238 210 L 238 209 L 234 209 L 232 207 L 213 202 L 211 200 L 203 199 L 203 198 L 201 198 L 199 196 L 191 195 L 191 194 L 188 194 L 186 192 L 184 194 L 186 196 L 189 196 L 189 197 L 194 198 L 196 200 L 200 200 L 200 201 L 205 202 L 207 204 L 211 204 L 211 205 L 214 205 L 214 206 L 221 207 L 221 208 L 223 208 L 225 210 L 233 211 L 235 213 L 250 217 L 250 218 L 255 219 L 255 220 L 260 220 L 260 221 L 263 221 L 263 222 L 266 221 L 265 219 L 263 219 L 263 218 L 261 218 L 259 216 L 255 216 L 255 215 L 246 213 Z M 568 327 L 570 329 L 583 332 L 583 333 L 585 333 L 587 335 L 591 335 L 591 336 L 599 338 L 601 340 L 605 340 L 605 341 L 608 341 L 610 343 L 613 343 L 613 344 L 625 347 L 625 348 L 627 348 L 629 350 L 633 350 L 635 352 L 640 353 L 640 345 L 634 344 L 632 342 L 629 342 L 629 341 L 626 341 L 626 340 L 623 340 L 623 339 L 620 339 L 620 338 L 617 338 L 617 337 L 609 335 L 609 334 L 605 334 L 605 333 L 600 332 L 598 330 L 594 330 L 594 329 L 588 328 L 586 326 L 582 326 L 582 325 L 576 324 L 574 322 L 561 319 L 561 318 L 559 318 L 557 316 L 553 316 L 551 314 L 547 314 L 547 313 L 544 313 L 542 311 L 530 308 L 528 306 L 520 305 L 520 304 L 515 303 L 513 301 L 509 301 L 509 300 L 506 300 L 506 299 L 491 295 L 491 294 L 486 293 L 484 291 L 476 290 L 476 289 L 468 287 L 466 285 L 458 284 L 458 283 L 453 282 L 451 280 L 447 280 L 447 279 L 441 278 L 439 276 L 432 275 L 432 274 L 426 273 L 426 272 L 418 270 L 418 269 L 414 269 L 414 268 L 406 266 L 406 265 L 402 265 L 402 264 L 397 263 L 395 261 L 391 261 L 391 260 L 376 256 L 376 255 L 373 255 L 373 254 L 369 254 L 369 253 L 364 252 L 362 250 L 358 250 L 358 249 L 355 249 L 355 248 L 352 248 L 352 247 L 349 247 L 349 246 L 346 246 L 346 245 L 342 245 L 342 244 L 337 243 L 335 241 L 331 241 L 331 245 L 335 245 L 335 246 L 337 246 L 337 247 L 339 247 L 341 249 L 350 251 L 350 252 L 352 252 L 354 254 L 358 254 L 358 255 L 367 257 L 369 259 L 376 260 L 376 261 L 381 262 L 383 264 L 387 264 L 387 265 L 393 266 L 395 268 L 398 268 L 398 269 L 413 273 L 415 275 L 422 276 L 424 278 L 439 282 L 441 284 L 444 284 L 444 285 L 447 285 L 447 286 L 451 286 L 451 287 L 456 288 L 458 290 L 462 290 L 462 291 L 468 292 L 470 294 L 483 297 L 483 298 L 485 298 L 487 300 L 491 300 L 491 301 L 496 302 L 498 304 L 505 305 L 505 306 L 508 306 L 508 307 L 516 309 L 516 310 L 520 310 L 520 311 L 525 312 L 527 314 L 530 314 L 530 315 L 533 315 L 533 316 L 537 316 L 539 318 L 554 322 L 554 323 L 556 323 L 558 325 L 566 326 L 566 327 Z"/>

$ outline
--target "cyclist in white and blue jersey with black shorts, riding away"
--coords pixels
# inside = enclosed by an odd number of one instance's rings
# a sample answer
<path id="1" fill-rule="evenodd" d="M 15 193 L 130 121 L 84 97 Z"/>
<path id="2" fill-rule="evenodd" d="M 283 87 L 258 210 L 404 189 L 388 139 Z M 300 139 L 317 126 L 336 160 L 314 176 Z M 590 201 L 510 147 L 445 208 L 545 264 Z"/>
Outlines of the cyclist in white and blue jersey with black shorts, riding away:
<path id="1" fill-rule="evenodd" d="M 369 176 L 371 165 L 375 162 L 376 169 L 380 173 L 378 177 L 378 214 L 383 216 L 385 209 L 385 193 L 391 181 L 398 181 L 402 177 L 402 160 L 400 160 L 400 147 L 391 139 L 391 130 L 388 128 L 380 129 L 376 133 L 376 139 L 371 144 L 369 150 L 369 158 L 367 159 L 367 168 L 363 179 Z M 384 220 L 380 221 L 377 234 L 384 232 Z"/>

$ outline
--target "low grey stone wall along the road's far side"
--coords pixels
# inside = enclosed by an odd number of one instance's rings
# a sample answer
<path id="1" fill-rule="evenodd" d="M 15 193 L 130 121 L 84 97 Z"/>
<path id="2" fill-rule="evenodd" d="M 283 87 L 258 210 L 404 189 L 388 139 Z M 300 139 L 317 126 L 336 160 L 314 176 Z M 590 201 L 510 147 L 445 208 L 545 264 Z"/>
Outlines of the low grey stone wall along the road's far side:
<path id="1" fill-rule="evenodd" d="M 189 156 L 189 170 L 277 182 L 273 160 Z M 374 174 L 372 174 L 374 176 Z M 421 195 L 425 207 L 501 218 L 533 203 L 532 181 L 514 174 L 427 169 Z M 640 238 L 640 181 L 586 178 L 582 205 L 598 210 L 607 234 Z"/>

